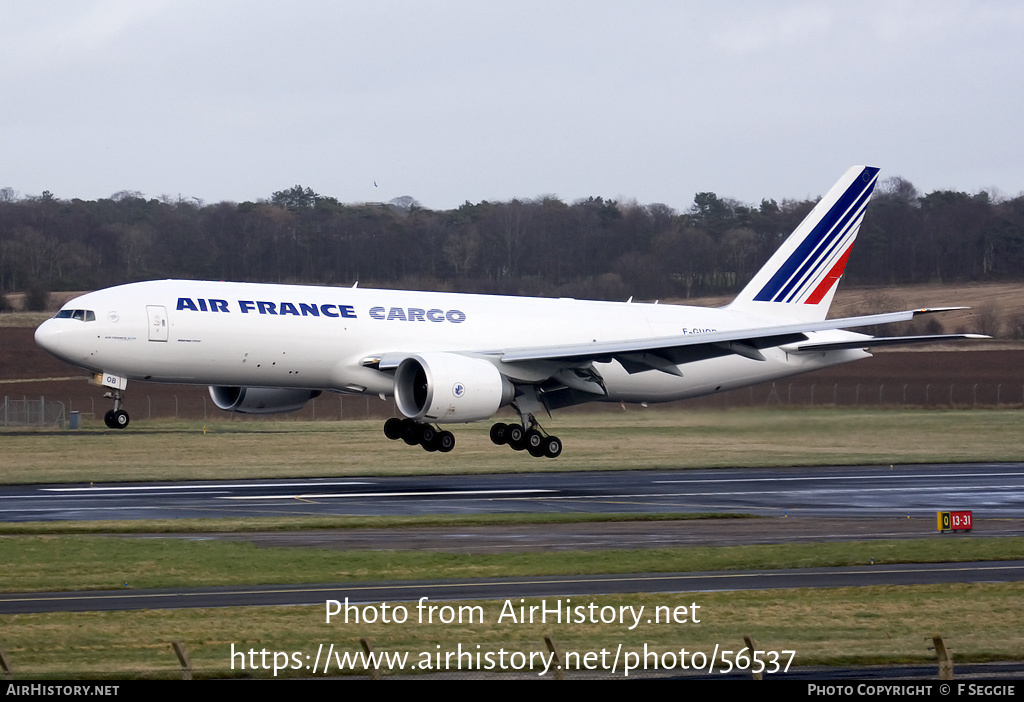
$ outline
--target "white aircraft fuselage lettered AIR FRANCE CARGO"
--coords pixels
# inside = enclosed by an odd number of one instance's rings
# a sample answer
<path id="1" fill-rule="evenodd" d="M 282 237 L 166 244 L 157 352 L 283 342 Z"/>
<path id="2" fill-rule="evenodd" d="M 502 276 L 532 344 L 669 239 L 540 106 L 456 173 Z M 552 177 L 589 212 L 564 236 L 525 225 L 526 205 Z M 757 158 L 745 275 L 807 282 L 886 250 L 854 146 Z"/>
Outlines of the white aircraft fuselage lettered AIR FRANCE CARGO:
<path id="1" fill-rule="evenodd" d="M 530 382 L 530 362 L 499 352 L 560 344 L 701 335 L 778 323 L 728 309 L 515 298 L 454 293 L 155 280 L 84 295 L 65 306 L 94 312 L 37 331 L 41 346 L 94 372 L 129 380 L 212 386 L 309 388 L 390 395 L 393 375 L 368 359 L 431 351 L 492 358 L 513 382 Z M 810 333 L 816 340 L 859 335 Z M 595 362 L 606 396 L 662 402 L 729 390 L 865 358 L 861 349 L 763 350 L 687 363 L 682 376 L 628 374 Z M 532 362 L 537 377 L 544 361 Z"/>

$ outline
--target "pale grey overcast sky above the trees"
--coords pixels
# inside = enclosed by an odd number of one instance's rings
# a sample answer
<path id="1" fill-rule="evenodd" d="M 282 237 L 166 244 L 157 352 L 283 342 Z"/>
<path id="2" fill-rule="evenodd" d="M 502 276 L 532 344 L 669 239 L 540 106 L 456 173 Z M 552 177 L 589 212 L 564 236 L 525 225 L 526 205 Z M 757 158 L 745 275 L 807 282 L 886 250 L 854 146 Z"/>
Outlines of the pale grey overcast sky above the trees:
<path id="1" fill-rule="evenodd" d="M 1010 0 L 0 0 L 0 187 L 685 210 L 869 164 L 1016 195 L 1021 37 Z"/>

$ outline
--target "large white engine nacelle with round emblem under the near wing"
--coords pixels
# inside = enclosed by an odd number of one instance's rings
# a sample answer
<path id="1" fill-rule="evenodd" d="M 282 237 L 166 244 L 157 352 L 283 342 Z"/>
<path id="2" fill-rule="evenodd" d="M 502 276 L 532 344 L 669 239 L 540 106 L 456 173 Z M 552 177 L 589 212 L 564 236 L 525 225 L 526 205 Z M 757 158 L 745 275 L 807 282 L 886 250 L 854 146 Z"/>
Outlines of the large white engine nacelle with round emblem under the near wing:
<path id="1" fill-rule="evenodd" d="M 422 353 L 398 364 L 394 399 L 411 420 L 479 422 L 515 397 L 512 383 L 482 358 Z"/>

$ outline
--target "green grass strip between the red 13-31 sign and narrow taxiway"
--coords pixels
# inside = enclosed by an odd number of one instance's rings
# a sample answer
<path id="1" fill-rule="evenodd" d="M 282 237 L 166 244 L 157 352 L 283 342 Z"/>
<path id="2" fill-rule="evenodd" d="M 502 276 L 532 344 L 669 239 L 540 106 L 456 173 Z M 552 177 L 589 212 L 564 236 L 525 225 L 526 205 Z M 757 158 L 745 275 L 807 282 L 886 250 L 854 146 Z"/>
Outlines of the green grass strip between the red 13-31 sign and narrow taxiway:
<path id="1" fill-rule="evenodd" d="M 464 555 L 63 535 L 0 549 L 0 590 L 34 591 L 996 561 L 1024 557 L 1024 537 Z"/>

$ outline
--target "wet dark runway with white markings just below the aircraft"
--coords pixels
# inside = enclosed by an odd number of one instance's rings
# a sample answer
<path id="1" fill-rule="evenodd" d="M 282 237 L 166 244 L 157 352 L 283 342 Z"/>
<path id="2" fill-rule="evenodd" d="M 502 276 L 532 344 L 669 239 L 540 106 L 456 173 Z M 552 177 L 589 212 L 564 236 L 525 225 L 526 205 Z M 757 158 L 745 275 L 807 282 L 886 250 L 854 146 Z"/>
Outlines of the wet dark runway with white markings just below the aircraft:
<path id="1" fill-rule="evenodd" d="M 1024 464 L 8 485 L 0 521 L 511 513 L 1024 515 Z"/>

